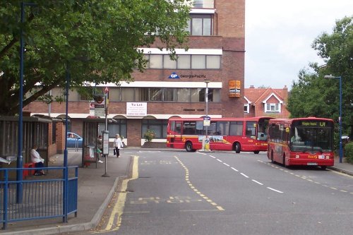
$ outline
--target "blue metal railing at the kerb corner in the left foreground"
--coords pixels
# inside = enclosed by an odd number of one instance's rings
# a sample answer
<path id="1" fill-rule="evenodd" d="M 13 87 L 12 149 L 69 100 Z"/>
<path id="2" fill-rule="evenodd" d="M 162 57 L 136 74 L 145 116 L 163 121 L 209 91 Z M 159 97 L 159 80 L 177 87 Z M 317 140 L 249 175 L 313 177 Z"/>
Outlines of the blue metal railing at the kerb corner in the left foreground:
<path id="1" fill-rule="evenodd" d="M 8 222 L 30 219 L 47 219 L 68 215 L 77 216 L 78 167 L 67 167 L 68 180 L 65 179 L 66 167 L 32 168 L 47 171 L 45 176 L 29 176 L 21 181 L 14 174 L 28 168 L 0 169 L 0 222 L 6 229 Z M 67 185 L 66 183 L 67 182 Z M 22 191 L 18 191 L 18 185 Z M 67 186 L 68 196 L 64 190 Z M 22 194 L 22 200 L 16 200 Z M 67 203 L 65 203 L 67 202 Z M 66 208 L 65 208 L 66 207 Z"/>

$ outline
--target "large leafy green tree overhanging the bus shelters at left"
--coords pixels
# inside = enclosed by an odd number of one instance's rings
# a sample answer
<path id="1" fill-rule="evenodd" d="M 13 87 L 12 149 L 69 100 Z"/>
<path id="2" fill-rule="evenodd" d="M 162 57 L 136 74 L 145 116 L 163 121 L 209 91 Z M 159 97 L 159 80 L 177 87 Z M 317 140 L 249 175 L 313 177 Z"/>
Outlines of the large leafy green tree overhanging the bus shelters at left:
<path id="1" fill-rule="evenodd" d="M 133 80 L 141 47 L 186 48 L 189 0 L 32 0 L 20 23 L 20 1 L 0 1 L 0 115 L 18 113 L 20 30 L 25 38 L 23 106 L 65 85 Z M 66 67 L 68 66 L 68 67 Z M 37 86 L 39 85 L 39 87 Z"/>

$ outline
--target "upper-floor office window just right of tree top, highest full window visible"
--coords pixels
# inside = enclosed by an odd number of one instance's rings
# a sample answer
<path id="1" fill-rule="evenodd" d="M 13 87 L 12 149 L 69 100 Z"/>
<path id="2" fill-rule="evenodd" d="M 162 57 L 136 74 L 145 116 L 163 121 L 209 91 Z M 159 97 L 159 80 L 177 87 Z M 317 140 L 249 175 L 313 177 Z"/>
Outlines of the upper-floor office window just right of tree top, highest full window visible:
<path id="1" fill-rule="evenodd" d="M 213 19 L 212 15 L 191 14 L 189 31 L 192 36 L 210 36 L 212 35 Z"/>

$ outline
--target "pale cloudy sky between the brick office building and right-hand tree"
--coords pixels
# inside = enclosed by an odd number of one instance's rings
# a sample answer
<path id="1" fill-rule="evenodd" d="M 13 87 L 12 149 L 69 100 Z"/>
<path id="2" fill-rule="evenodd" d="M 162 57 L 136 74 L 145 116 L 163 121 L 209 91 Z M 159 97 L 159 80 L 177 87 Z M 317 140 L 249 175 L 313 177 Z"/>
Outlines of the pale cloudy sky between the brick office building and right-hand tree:
<path id="1" fill-rule="evenodd" d="M 353 16 L 352 0 L 246 0 L 245 88 L 290 89 L 301 68 L 323 64 L 311 44 Z"/>

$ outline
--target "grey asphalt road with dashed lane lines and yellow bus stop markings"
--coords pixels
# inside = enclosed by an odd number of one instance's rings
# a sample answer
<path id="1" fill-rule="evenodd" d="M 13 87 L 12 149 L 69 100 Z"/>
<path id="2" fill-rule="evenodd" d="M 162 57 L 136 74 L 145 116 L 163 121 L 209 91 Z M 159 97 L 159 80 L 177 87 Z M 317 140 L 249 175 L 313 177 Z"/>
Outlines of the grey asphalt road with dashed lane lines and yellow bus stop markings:
<path id="1" fill-rule="evenodd" d="M 264 153 L 131 155 L 134 179 L 116 192 L 98 234 L 352 234 L 352 176 L 287 169 Z"/>

